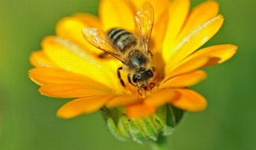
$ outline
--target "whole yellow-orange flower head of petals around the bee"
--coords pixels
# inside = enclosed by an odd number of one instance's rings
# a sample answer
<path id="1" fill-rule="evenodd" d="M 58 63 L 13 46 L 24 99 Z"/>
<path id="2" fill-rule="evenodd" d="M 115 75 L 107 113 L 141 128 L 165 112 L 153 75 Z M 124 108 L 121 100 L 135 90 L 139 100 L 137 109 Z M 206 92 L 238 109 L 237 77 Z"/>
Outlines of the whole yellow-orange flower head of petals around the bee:
<path id="1" fill-rule="evenodd" d="M 56 36 L 43 39 L 42 50 L 30 58 L 35 68 L 29 78 L 39 86 L 39 92 L 49 97 L 76 98 L 63 105 L 57 115 L 69 119 L 99 108 L 124 107 L 130 118 L 153 115 L 158 107 L 172 104 L 187 111 L 206 108 L 206 99 L 187 87 L 206 78 L 199 68 L 221 64 L 236 53 L 231 44 L 199 49 L 217 33 L 223 24 L 217 2 L 207 1 L 189 12 L 189 0 L 150 0 L 154 8 L 154 27 L 150 38 L 155 77 L 152 90 L 137 92 L 125 72 L 121 72 L 125 87 L 117 77 L 121 62 L 99 57 L 102 50 L 91 46 L 81 34 L 83 28 L 106 31 L 121 27 L 129 31 L 135 26 L 134 16 L 144 1 L 102 0 L 97 16 L 77 13 L 62 19 Z"/>

